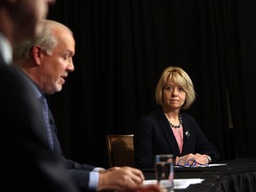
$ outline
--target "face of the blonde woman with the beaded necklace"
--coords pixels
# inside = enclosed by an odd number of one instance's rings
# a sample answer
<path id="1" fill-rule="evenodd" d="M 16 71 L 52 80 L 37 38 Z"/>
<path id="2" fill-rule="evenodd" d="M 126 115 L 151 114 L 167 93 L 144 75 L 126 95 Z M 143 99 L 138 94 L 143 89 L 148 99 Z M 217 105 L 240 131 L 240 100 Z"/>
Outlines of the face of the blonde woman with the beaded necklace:
<path id="1" fill-rule="evenodd" d="M 179 109 L 186 101 L 186 92 L 181 86 L 177 86 L 173 81 L 168 82 L 163 88 L 163 108 L 168 110 Z"/>

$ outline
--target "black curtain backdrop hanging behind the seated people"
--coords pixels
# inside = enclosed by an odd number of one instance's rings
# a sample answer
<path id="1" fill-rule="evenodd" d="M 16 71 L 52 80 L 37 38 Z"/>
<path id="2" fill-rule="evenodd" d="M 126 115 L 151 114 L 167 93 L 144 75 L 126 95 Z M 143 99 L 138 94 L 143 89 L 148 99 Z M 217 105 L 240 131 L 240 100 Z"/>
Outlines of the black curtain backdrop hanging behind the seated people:
<path id="1" fill-rule="evenodd" d="M 156 108 L 168 66 L 194 82 L 187 113 L 221 159 L 256 156 L 255 1 L 58 0 L 48 18 L 76 38 L 76 70 L 49 97 L 65 156 L 108 167 L 105 135 L 133 133 Z"/>

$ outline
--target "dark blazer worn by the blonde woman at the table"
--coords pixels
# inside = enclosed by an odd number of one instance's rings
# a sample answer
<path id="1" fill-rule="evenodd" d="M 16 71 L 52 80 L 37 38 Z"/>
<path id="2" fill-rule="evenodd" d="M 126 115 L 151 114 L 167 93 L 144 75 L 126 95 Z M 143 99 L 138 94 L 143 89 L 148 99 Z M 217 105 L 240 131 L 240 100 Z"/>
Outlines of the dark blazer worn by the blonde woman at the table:
<path id="1" fill-rule="evenodd" d="M 154 168 L 154 158 L 158 154 L 185 156 L 189 153 L 206 154 L 212 162 L 219 160 L 217 148 L 205 137 L 196 120 L 188 114 L 181 113 L 183 125 L 183 149 L 180 150 L 168 120 L 162 108 L 140 120 L 134 133 L 135 164 L 140 169 Z"/>

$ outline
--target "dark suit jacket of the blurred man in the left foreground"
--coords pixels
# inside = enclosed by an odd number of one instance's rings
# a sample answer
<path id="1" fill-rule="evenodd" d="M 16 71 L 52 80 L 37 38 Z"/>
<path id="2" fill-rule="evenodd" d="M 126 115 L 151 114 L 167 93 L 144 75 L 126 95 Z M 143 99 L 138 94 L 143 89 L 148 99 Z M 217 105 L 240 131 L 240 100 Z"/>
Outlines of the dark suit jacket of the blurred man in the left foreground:
<path id="1" fill-rule="evenodd" d="M 0 54 L 1 174 L 7 191 L 76 192 L 47 145 L 36 97 L 20 72 Z M 6 189 L 7 188 L 7 189 Z"/>

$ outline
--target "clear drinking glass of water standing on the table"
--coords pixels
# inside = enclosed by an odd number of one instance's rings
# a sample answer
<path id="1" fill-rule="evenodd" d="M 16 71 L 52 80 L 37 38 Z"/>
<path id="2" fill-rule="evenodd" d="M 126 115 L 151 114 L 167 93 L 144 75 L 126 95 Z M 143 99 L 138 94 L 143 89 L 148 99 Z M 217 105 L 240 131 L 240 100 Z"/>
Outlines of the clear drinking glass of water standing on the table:
<path id="1" fill-rule="evenodd" d="M 164 191 L 173 191 L 174 170 L 172 154 L 156 155 L 156 180 Z"/>

